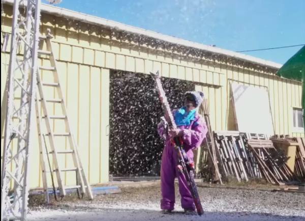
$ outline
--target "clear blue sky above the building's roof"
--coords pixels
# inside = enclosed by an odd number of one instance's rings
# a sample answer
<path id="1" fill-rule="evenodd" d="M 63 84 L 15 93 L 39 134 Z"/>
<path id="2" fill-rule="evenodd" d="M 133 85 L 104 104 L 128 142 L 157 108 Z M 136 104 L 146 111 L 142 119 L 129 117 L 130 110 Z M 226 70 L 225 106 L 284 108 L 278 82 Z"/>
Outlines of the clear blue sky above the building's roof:
<path id="1" fill-rule="evenodd" d="M 63 0 L 57 6 L 233 51 L 305 44 L 305 0 Z M 300 48 L 244 53 L 284 64 Z"/>

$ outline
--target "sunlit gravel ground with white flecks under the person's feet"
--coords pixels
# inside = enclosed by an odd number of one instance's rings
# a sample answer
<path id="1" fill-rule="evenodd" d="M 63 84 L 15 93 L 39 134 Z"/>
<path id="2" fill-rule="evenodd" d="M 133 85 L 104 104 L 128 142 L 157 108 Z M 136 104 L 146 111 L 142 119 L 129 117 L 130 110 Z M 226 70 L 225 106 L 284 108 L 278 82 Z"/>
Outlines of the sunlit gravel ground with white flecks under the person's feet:
<path id="1" fill-rule="evenodd" d="M 177 188 L 176 188 L 177 190 Z M 159 185 L 123 188 L 93 201 L 66 200 L 32 206 L 28 220 L 305 220 L 305 195 L 269 190 L 198 187 L 204 215 L 182 213 L 179 195 L 172 214 L 160 212 Z"/>

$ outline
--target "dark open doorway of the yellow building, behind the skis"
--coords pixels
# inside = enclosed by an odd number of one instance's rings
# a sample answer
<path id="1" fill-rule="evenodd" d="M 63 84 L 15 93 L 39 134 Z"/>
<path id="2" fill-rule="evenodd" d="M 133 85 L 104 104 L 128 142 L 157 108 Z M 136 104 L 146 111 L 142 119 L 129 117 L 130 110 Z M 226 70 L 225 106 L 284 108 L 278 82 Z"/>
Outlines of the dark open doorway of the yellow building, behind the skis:
<path id="1" fill-rule="evenodd" d="M 162 78 L 171 108 L 183 105 L 194 82 Z M 159 176 L 163 141 L 157 124 L 163 110 L 155 82 L 147 74 L 110 72 L 109 173 L 113 176 Z"/>

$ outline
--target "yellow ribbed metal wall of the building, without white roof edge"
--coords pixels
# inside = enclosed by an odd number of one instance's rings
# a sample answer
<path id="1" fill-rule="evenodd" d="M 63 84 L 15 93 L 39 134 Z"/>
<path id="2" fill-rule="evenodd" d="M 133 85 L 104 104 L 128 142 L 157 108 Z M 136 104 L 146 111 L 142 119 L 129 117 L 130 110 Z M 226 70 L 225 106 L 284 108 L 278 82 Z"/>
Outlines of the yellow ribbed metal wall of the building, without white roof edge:
<path id="1" fill-rule="evenodd" d="M 5 6 L 4 12 L 3 31 L 10 33 L 12 8 Z M 240 66 L 211 61 L 194 62 L 190 57 L 179 57 L 178 54 L 165 50 L 112 41 L 107 35 L 97 34 L 94 31 L 96 27 L 92 25 L 61 17 L 43 14 L 41 20 L 42 33 L 50 29 L 54 35 L 53 47 L 60 82 L 90 183 L 108 181 L 109 69 L 140 73 L 159 70 L 166 77 L 195 81 L 196 89 L 205 92 L 208 97 L 211 126 L 214 130 L 234 127 L 229 108 L 231 80 L 267 87 L 276 133 L 303 136 L 303 133 L 296 133 L 292 128 L 292 107 L 301 106 L 300 82 Z M 3 96 L 9 54 L 1 53 L 1 59 Z M 43 78 L 47 80 L 47 73 L 43 73 Z M 53 96 L 53 91 L 49 91 L 49 95 Z M 53 112 L 55 114 L 56 109 L 53 108 Z M 60 145 L 65 147 L 66 141 L 63 140 Z M 38 167 L 38 142 L 33 152 L 31 186 L 38 187 L 42 186 Z M 63 164 L 68 163 L 67 159 L 63 159 Z M 67 183 L 68 180 L 69 177 L 66 177 Z"/>

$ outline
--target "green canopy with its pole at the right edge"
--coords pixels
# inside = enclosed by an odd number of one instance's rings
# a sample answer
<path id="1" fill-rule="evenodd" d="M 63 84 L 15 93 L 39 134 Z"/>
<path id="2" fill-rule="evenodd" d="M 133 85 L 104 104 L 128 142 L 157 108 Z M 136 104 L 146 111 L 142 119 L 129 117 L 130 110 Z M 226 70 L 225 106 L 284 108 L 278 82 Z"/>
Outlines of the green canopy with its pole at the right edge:
<path id="1" fill-rule="evenodd" d="M 282 67 L 278 70 L 277 75 L 302 81 L 302 98 L 303 108 L 303 126 L 305 132 L 305 46 L 299 49 Z"/>

